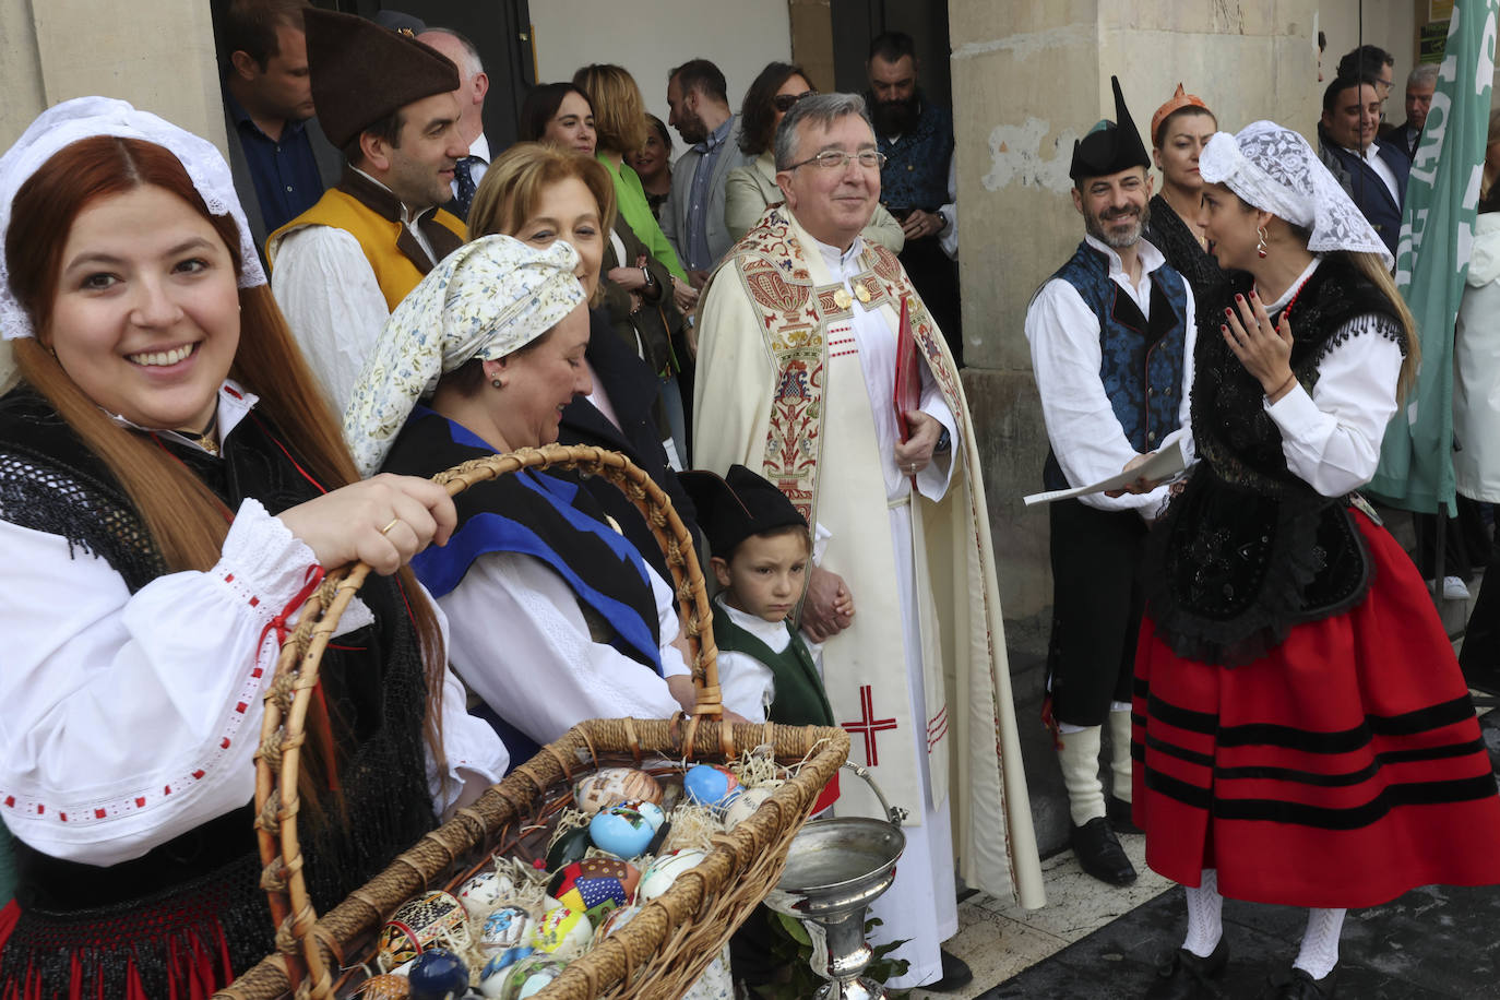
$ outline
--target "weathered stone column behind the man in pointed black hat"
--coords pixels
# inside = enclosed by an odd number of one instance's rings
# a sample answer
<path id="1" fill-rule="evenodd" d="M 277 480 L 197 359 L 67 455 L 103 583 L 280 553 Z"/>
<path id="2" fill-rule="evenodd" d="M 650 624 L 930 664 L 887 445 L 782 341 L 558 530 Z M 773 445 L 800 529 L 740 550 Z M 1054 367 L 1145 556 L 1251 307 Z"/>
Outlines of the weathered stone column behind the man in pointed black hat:
<path id="1" fill-rule="evenodd" d="M 1046 652 L 1052 604 L 1047 454 L 1026 304 L 1083 238 L 1072 142 L 1113 118 L 1120 78 L 1143 141 L 1182 81 L 1234 130 L 1274 118 L 1312 135 L 1320 106 L 1314 0 L 950 0 L 966 385 L 984 456 L 1012 651 Z M 1160 183 L 1160 175 L 1155 177 Z M 1023 657 L 1024 658 L 1024 657 Z"/>

